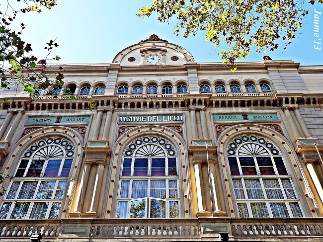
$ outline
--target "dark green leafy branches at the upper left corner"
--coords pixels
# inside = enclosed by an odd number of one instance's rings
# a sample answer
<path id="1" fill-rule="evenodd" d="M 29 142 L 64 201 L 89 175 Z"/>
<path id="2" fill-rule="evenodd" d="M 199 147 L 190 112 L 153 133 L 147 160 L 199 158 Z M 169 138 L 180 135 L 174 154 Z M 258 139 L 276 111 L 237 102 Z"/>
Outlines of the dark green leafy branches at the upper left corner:
<path id="1" fill-rule="evenodd" d="M 55 5 L 55 0 L 7 0 L 0 3 L 0 88 L 9 88 L 10 82 L 20 83 L 34 98 L 42 90 L 50 94 L 64 86 L 63 74 L 58 73 L 55 77 L 46 75 L 46 62 L 60 60 L 59 56 L 49 57 L 52 50 L 58 47 L 58 43 L 55 40 L 48 41 L 45 47 L 48 55 L 37 65 L 38 58 L 31 54 L 31 44 L 22 39 L 26 24 L 21 23 L 18 29 L 11 27 L 17 24 L 15 20 L 18 14 L 40 13 L 41 8 L 51 9 Z M 74 96 L 72 98 L 75 99 Z"/>

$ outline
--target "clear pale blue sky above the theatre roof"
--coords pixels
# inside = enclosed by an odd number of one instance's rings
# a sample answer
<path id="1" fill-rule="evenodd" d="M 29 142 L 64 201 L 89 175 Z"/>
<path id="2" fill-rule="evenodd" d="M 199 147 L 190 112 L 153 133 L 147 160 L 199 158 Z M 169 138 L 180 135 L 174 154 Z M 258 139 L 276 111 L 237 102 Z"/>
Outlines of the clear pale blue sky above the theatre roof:
<path id="1" fill-rule="evenodd" d="M 33 53 L 41 59 L 46 56 L 46 43 L 57 37 L 59 48 L 53 55 L 59 55 L 62 64 L 110 63 L 119 51 L 153 33 L 186 48 L 196 62 L 221 62 L 217 51 L 222 48 L 215 49 L 212 43 L 206 42 L 204 32 L 187 39 L 180 35 L 176 37 L 173 34 L 176 19 L 165 24 L 157 20 L 157 15 L 144 20 L 136 16 L 141 6 L 151 2 L 153 0 L 57 0 L 57 6 L 51 10 L 20 14 L 17 22 L 28 23 L 23 38 L 32 44 Z M 305 7 L 309 9 L 309 15 L 287 50 L 281 48 L 256 54 L 253 49 L 241 61 L 262 61 L 264 55 L 269 55 L 273 60 L 323 65 L 323 41 L 319 45 L 321 50 L 314 49 L 314 41 L 323 40 L 323 4 L 305 3 Z M 319 37 L 314 36 L 314 9 L 322 13 L 319 15 Z"/>

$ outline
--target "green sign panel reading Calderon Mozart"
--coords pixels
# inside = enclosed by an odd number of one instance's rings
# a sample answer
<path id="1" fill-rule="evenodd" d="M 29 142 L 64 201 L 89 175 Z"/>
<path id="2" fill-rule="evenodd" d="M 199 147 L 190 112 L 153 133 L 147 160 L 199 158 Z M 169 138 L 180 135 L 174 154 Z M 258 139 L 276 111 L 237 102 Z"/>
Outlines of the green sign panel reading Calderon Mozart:
<path id="1" fill-rule="evenodd" d="M 26 124 L 83 124 L 90 116 L 29 117 Z"/>

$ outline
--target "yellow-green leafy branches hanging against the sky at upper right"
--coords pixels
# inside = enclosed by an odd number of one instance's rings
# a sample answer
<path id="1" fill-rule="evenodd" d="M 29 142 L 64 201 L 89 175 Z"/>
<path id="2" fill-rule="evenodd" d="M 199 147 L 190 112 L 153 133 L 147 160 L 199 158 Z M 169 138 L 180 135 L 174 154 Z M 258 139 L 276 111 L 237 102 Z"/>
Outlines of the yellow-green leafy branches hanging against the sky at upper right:
<path id="1" fill-rule="evenodd" d="M 257 53 L 274 51 L 282 39 L 286 49 L 308 14 L 303 3 L 303 0 L 154 0 L 137 15 L 144 18 L 157 12 L 161 22 L 176 16 L 174 34 L 178 35 L 182 28 L 186 38 L 203 30 L 206 41 L 215 47 L 225 41 L 228 49 L 222 49 L 218 55 L 235 71 L 235 62 L 246 57 L 252 45 Z"/>

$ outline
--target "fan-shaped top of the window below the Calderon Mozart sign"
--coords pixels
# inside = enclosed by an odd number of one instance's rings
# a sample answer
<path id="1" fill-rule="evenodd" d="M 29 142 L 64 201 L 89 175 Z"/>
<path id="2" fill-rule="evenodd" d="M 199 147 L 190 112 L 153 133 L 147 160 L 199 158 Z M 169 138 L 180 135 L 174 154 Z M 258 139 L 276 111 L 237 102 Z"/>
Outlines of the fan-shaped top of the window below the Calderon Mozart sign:
<path id="1" fill-rule="evenodd" d="M 70 141 L 61 138 L 48 138 L 30 146 L 24 157 L 35 159 L 59 158 L 64 157 L 64 150 L 66 157 L 74 157 L 75 150 Z"/>

